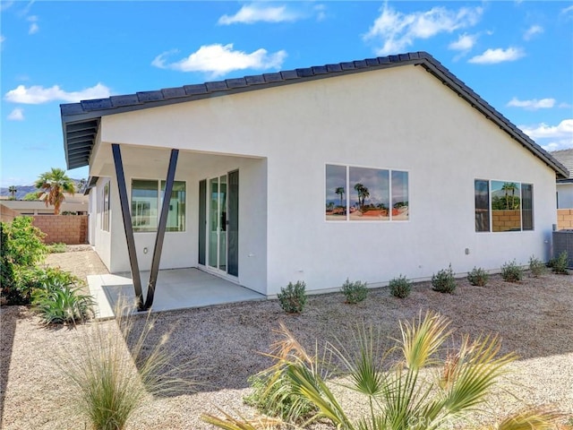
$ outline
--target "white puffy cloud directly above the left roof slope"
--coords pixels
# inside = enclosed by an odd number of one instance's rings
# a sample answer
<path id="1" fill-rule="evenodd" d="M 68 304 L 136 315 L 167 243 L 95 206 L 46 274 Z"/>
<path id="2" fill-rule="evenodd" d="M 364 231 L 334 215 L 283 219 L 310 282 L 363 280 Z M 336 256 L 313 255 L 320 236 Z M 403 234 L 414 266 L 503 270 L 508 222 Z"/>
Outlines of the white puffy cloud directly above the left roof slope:
<path id="1" fill-rule="evenodd" d="M 278 69 L 286 58 L 286 51 L 280 50 L 269 54 L 266 49 L 257 49 L 251 54 L 233 49 L 228 45 L 203 45 L 192 53 L 175 63 L 166 63 L 166 57 L 174 51 L 165 52 L 156 56 L 151 64 L 162 69 L 173 69 L 180 72 L 210 73 L 212 78 L 224 75 L 235 70 Z"/>

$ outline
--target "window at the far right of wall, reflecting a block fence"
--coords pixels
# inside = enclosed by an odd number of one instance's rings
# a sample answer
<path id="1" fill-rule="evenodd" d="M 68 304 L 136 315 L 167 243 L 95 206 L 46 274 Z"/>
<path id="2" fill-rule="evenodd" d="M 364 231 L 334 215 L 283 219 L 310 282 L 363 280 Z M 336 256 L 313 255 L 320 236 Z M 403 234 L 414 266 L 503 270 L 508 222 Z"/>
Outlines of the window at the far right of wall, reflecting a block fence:
<path id="1" fill-rule="evenodd" d="M 475 179 L 475 231 L 534 229 L 534 185 Z"/>

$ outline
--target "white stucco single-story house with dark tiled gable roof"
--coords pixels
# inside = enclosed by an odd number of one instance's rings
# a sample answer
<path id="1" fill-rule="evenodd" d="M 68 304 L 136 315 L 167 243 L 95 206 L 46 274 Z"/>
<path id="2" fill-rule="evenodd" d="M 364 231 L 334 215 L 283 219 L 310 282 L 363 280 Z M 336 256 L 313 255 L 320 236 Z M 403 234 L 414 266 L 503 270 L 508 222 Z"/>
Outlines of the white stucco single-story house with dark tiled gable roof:
<path id="1" fill-rule="evenodd" d="M 295 280 L 329 291 L 546 260 L 555 180 L 569 176 L 424 52 L 61 115 L 68 168 L 90 166 L 90 242 L 110 271 L 197 267 L 267 297 Z"/>

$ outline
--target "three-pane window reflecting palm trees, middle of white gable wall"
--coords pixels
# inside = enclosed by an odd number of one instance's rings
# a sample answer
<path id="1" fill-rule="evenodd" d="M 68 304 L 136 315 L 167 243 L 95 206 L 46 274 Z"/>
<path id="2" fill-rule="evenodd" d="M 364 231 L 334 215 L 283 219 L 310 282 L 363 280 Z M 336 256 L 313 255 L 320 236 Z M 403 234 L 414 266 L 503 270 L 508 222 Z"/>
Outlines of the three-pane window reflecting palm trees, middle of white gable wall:
<path id="1" fill-rule="evenodd" d="M 327 220 L 407 220 L 408 174 L 382 168 L 326 165 Z"/>

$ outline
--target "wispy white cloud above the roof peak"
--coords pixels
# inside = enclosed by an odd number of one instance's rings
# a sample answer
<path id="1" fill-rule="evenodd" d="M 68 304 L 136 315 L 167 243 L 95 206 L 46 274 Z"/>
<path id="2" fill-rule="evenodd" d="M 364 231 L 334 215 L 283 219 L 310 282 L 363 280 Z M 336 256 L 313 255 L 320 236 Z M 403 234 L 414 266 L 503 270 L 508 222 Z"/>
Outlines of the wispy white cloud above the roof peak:
<path id="1" fill-rule="evenodd" d="M 441 32 L 472 27 L 479 22 L 482 13 L 481 7 L 462 7 L 458 11 L 433 7 L 426 12 L 401 13 L 384 4 L 381 15 L 363 39 L 381 43 L 376 49 L 377 55 L 397 54 L 413 45 L 415 39 L 430 39 Z"/>

